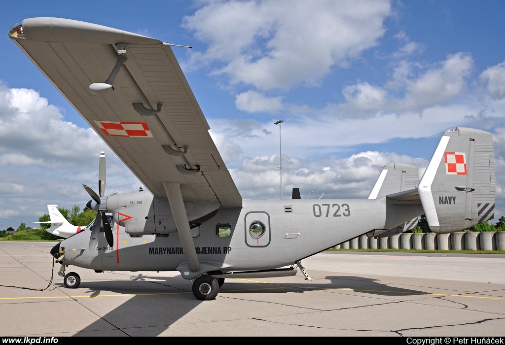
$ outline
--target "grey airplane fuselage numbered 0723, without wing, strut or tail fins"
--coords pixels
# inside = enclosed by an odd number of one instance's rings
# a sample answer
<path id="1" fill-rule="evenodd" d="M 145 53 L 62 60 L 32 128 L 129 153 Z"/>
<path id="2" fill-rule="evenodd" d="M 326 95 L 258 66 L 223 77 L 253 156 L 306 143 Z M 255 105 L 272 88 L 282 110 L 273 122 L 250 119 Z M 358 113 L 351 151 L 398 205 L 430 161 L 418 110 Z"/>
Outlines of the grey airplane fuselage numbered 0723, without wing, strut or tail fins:
<path id="1" fill-rule="evenodd" d="M 243 200 L 242 208 L 219 208 L 216 215 L 193 228 L 192 233 L 201 263 L 225 271 L 258 270 L 291 265 L 373 229 L 392 228 L 422 212 L 420 204 L 390 205 L 386 198 Z M 156 222 L 157 214 L 150 215 Z M 145 217 L 137 215 L 139 219 Z M 159 217 L 167 220 L 167 215 Z M 251 232 L 251 224 L 257 222 L 263 223 L 264 229 Z M 228 226 L 230 236 L 216 235 L 219 227 Z M 94 270 L 175 271 L 186 262 L 177 232 L 132 235 L 115 223 L 113 234 L 114 247 L 109 247 L 104 233 L 100 233 L 98 246 L 92 251 L 88 250 L 88 231 L 64 240 L 63 263 Z"/>

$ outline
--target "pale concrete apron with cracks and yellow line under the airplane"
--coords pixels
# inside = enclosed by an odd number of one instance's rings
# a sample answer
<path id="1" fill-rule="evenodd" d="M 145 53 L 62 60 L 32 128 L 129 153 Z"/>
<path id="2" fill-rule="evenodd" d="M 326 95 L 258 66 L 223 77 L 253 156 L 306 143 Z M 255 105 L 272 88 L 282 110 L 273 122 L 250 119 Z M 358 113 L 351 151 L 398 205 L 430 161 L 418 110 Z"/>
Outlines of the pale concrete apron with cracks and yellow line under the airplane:
<path id="1" fill-rule="evenodd" d="M 32 247 L 33 245 L 33 247 Z M 55 243 L 0 242 L 0 284 L 43 289 Z M 323 252 L 312 281 L 227 279 L 201 302 L 178 272 L 95 273 L 66 289 L 0 287 L 0 336 L 505 335 L 505 255 Z"/>

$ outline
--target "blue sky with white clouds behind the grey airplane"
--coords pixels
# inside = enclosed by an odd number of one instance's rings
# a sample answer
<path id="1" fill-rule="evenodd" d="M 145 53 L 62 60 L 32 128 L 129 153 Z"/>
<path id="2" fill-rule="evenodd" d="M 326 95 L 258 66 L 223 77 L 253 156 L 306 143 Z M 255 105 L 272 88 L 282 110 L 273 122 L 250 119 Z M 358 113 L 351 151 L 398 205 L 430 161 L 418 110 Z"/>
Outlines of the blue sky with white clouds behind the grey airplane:
<path id="1" fill-rule="evenodd" d="M 422 174 L 441 133 L 455 126 L 495 134 L 497 186 L 505 187 L 504 6 L 387 0 L 5 5 L 0 229 L 36 221 L 46 204 L 84 206 L 89 197 L 81 184 L 95 184 L 100 150 L 108 157 L 108 191 L 139 185 L 11 42 L 7 31 L 17 21 L 70 18 L 192 45 L 173 50 L 242 197 L 279 196 L 273 122 L 282 117 L 284 195 L 293 187 L 305 195 L 338 175 L 318 192 L 363 198 L 390 161 L 418 165 Z M 502 193 L 497 216 L 505 214 Z"/>

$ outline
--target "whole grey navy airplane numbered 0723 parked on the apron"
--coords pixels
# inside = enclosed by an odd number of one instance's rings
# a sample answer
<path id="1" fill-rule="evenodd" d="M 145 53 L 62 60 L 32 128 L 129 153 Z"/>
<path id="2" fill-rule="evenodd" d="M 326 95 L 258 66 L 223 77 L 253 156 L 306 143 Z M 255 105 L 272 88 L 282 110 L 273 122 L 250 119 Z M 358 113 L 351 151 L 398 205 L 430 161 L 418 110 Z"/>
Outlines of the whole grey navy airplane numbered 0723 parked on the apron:
<path id="1" fill-rule="evenodd" d="M 150 191 L 104 196 L 104 157 L 98 194 L 85 186 L 103 232 L 55 246 L 60 275 L 68 265 L 175 270 L 209 300 L 227 277 L 298 267 L 309 278 L 301 259 L 363 234 L 403 231 L 423 213 L 435 233 L 493 217 L 490 133 L 445 131 L 419 184 L 416 167 L 388 164 L 365 200 L 242 200 L 172 44 L 59 18 L 25 19 L 9 35 Z M 71 272 L 64 281 L 77 287 L 80 278 Z"/>

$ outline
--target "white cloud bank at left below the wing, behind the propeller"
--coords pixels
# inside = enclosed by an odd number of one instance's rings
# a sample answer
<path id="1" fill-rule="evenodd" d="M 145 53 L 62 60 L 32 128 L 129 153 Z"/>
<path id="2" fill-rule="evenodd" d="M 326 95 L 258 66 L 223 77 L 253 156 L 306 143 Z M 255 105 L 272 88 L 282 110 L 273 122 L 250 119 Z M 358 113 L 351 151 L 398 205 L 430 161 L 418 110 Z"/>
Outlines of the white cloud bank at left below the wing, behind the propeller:
<path id="1" fill-rule="evenodd" d="M 56 106 L 29 89 L 0 83 L 0 230 L 47 213 L 47 204 L 84 207 L 85 183 L 97 189 L 98 157 L 107 157 L 106 195 L 139 182 L 91 129 L 64 121 Z"/>

